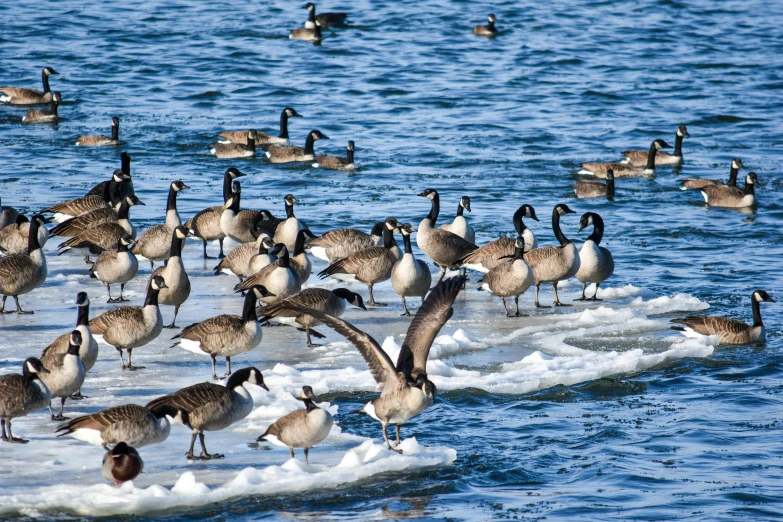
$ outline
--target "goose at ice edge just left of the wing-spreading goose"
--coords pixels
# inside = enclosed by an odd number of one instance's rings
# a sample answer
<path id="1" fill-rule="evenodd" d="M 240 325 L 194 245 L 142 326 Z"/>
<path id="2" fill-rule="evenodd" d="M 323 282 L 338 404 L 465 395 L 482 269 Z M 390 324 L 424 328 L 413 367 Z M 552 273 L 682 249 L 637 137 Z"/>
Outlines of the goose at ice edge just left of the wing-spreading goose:
<path id="1" fill-rule="evenodd" d="M 329 435 L 334 418 L 331 413 L 315 405 L 315 394 L 310 386 L 302 386 L 302 394 L 297 399 L 304 402 L 305 409 L 294 410 L 277 419 L 256 440 L 286 446 L 291 452 L 291 458 L 294 458 L 294 448 L 304 448 L 305 464 L 309 464 L 307 454 L 310 448 Z"/>

